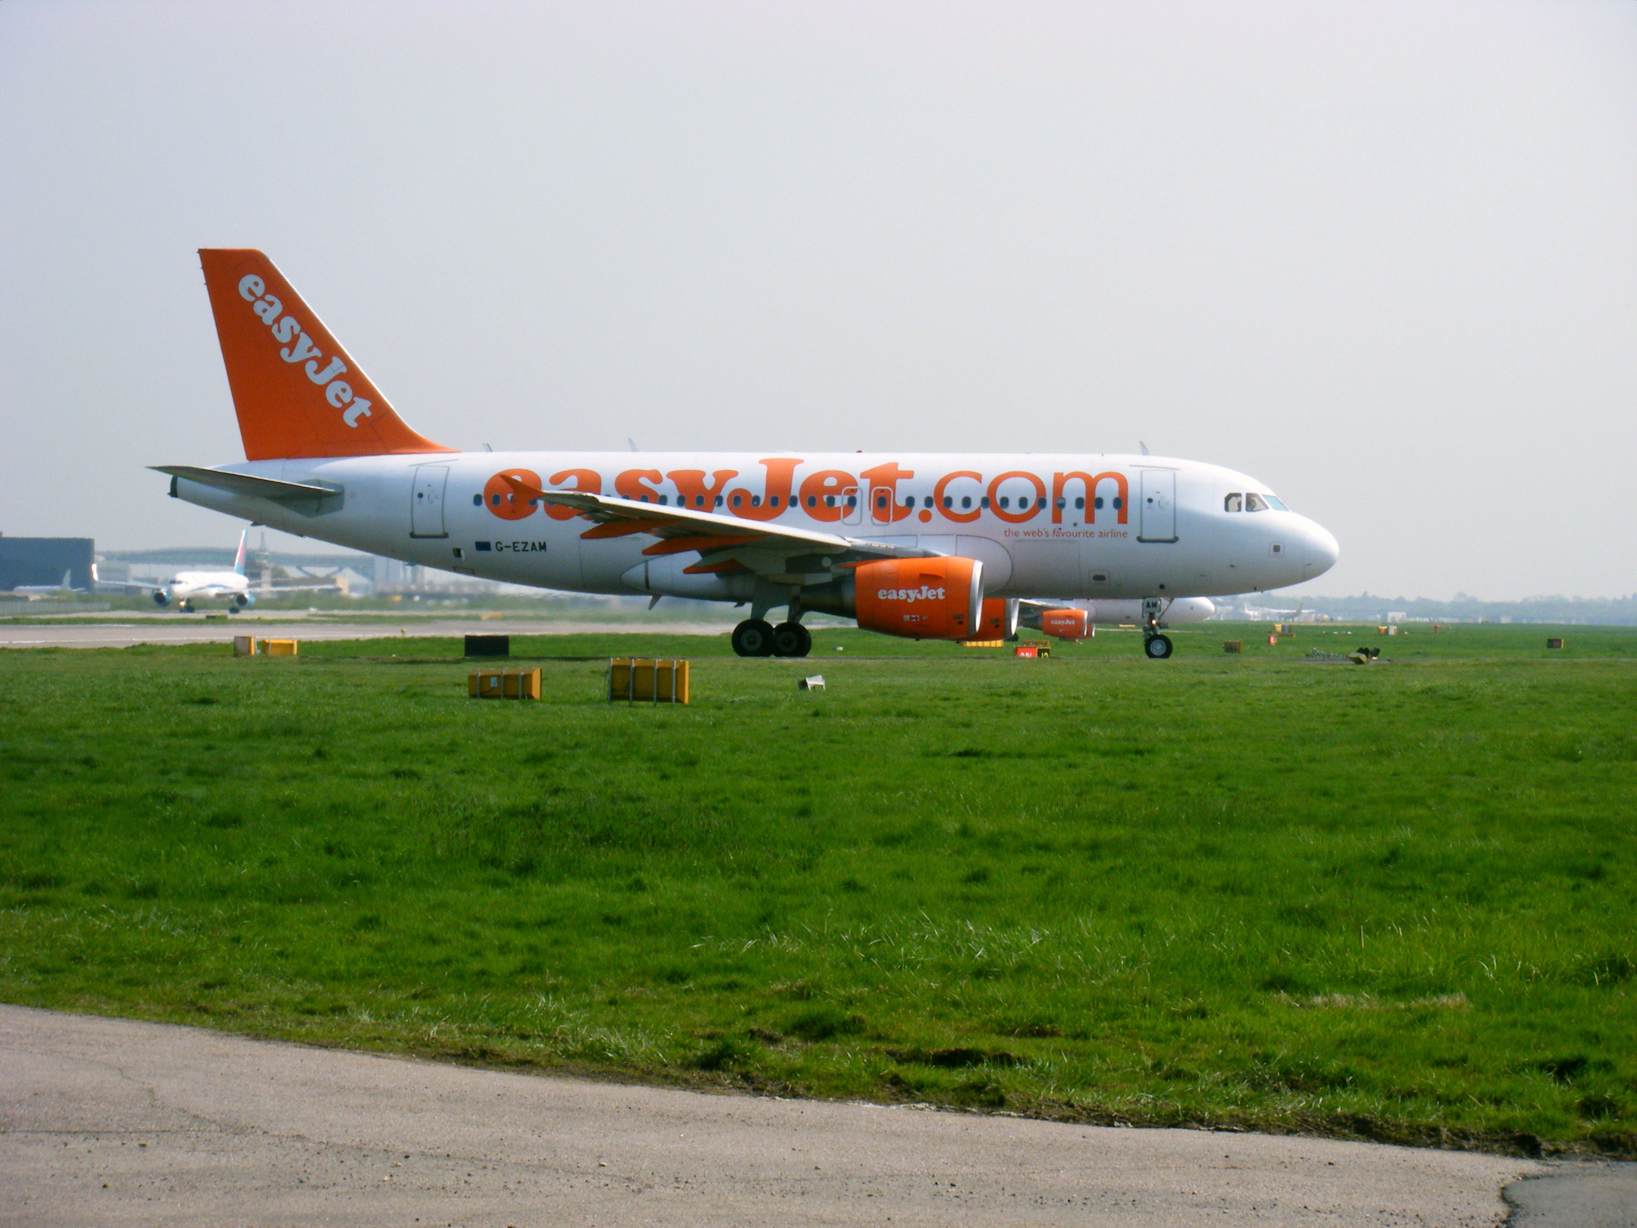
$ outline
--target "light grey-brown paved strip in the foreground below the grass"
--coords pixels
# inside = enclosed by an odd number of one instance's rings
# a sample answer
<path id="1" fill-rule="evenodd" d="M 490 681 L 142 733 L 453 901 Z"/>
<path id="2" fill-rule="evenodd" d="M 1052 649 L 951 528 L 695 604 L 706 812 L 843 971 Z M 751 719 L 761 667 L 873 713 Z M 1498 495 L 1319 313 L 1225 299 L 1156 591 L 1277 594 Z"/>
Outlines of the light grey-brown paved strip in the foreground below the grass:
<path id="1" fill-rule="evenodd" d="M 7 1225 L 1454 1226 L 1499 1223 L 1503 1187 L 1549 1171 L 476 1071 L 0 1007 Z"/>

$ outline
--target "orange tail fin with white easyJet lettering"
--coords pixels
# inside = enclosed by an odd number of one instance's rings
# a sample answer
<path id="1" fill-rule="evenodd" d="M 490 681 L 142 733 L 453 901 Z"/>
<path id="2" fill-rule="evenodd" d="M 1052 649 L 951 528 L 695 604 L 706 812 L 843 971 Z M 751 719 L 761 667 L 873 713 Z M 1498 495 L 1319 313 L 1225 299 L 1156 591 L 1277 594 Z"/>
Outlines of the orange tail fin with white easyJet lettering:
<path id="1" fill-rule="evenodd" d="M 246 460 L 453 450 L 404 426 L 265 255 L 203 249 L 200 264 Z"/>

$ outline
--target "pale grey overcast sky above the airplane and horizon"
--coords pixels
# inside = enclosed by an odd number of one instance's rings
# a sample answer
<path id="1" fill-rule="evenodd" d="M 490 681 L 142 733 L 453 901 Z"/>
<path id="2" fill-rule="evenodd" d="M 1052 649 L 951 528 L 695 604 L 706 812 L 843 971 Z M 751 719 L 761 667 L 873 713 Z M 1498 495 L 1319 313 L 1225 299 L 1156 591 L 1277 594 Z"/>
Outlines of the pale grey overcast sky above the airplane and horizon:
<path id="1" fill-rule="evenodd" d="M 5 0 L 0 530 L 231 545 L 208 246 L 455 447 L 1146 440 L 1321 593 L 1637 589 L 1630 0 Z"/>

